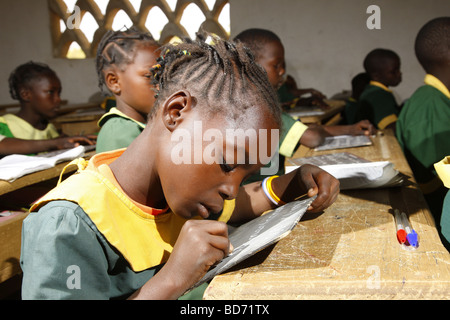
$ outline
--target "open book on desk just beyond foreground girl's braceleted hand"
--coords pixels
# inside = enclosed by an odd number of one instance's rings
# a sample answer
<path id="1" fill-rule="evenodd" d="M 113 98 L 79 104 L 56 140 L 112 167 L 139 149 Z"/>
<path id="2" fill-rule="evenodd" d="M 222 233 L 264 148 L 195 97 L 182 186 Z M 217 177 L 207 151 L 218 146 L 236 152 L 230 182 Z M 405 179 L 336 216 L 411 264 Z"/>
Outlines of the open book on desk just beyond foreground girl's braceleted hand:
<path id="1" fill-rule="evenodd" d="M 389 161 L 372 162 L 348 152 L 326 154 L 308 158 L 289 159 L 293 166 L 286 173 L 302 164 L 313 164 L 334 176 L 341 190 L 401 186 L 404 176 Z"/>

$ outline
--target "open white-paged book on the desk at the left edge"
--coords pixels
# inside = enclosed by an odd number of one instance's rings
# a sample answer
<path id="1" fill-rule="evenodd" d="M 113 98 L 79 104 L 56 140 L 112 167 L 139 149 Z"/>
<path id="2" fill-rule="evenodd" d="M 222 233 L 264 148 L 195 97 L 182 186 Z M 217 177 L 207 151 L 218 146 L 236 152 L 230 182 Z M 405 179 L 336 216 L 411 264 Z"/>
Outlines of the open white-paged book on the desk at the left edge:
<path id="1" fill-rule="evenodd" d="M 11 154 L 0 159 L 0 180 L 14 180 L 41 170 L 54 167 L 57 163 L 82 157 L 95 146 L 78 146 L 67 150 L 58 150 L 37 156 Z"/>

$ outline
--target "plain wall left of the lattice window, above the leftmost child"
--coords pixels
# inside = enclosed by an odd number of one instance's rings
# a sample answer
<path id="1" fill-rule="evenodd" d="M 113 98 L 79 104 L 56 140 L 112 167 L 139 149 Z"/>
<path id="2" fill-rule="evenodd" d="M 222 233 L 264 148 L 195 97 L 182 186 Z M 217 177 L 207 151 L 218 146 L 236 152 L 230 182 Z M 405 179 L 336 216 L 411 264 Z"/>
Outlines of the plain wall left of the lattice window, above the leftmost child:
<path id="1" fill-rule="evenodd" d="M 98 92 L 94 59 L 53 58 L 47 0 L 0 0 L 0 104 L 16 103 L 8 77 L 30 60 L 53 68 L 62 82 L 62 99 L 84 103 Z"/>

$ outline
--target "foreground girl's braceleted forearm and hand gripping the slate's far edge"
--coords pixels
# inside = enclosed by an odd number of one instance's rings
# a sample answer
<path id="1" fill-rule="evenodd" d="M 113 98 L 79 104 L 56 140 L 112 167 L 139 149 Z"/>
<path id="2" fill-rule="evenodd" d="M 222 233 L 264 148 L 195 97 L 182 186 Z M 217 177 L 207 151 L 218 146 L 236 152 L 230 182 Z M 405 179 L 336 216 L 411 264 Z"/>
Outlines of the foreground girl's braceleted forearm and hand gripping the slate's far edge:
<path id="1" fill-rule="evenodd" d="M 339 194 L 339 181 L 319 167 L 302 165 L 297 170 L 273 179 L 272 188 L 286 203 L 302 195 L 308 197 L 317 195 L 308 211 L 320 212 L 336 200 Z M 251 220 L 274 208 L 275 205 L 265 195 L 261 182 L 254 182 L 241 187 L 230 222 Z"/>

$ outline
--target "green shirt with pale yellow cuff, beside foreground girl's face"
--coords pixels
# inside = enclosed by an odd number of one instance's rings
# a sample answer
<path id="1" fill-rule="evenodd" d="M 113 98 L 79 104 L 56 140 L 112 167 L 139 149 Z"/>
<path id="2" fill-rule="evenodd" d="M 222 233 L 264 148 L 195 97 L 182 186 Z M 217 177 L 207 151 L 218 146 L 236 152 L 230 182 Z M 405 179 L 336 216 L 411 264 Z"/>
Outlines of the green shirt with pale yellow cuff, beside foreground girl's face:
<path id="1" fill-rule="evenodd" d="M 286 157 L 291 158 L 294 155 L 294 152 L 300 146 L 300 138 L 308 129 L 308 126 L 292 118 L 288 113 L 281 112 L 281 130 L 280 130 L 280 140 L 279 140 L 279 150 L 278 154 L 275 154 L 274 157 L 278 158 L 278 171 L 273 175 L 282 175 L 285 173 L 284 162 Z M 274 161 L 272 159 L 267 165 L 264 167 L 270 167 Z M 261 170 L 261 169 L 260 169 Z M 243 184 L 252 183 L 255 181 L 262 181 L 267 176 L 262 175 L 259 171 L 258 173 L 252 175 L 247 180 L 244 181 Z"/>

